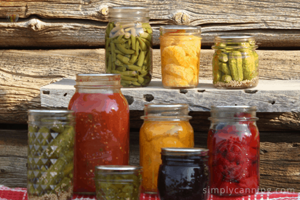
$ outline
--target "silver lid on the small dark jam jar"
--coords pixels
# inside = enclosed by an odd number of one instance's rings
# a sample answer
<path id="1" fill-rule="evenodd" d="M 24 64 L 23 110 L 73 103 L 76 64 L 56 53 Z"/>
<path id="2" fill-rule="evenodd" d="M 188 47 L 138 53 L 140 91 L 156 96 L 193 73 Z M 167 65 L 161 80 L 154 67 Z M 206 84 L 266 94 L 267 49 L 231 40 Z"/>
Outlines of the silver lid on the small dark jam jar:
<path id="1" fill-rule="evenodd" d="M 178 155 L 178 154 L 186 154 L 186 155 L 198 155 L 208 153 L 208 149 L 206 148 L 174 148 L 174 147 L 166 147 L 161 148 L 161 154 L 169 154 L 169 155 Z"/>

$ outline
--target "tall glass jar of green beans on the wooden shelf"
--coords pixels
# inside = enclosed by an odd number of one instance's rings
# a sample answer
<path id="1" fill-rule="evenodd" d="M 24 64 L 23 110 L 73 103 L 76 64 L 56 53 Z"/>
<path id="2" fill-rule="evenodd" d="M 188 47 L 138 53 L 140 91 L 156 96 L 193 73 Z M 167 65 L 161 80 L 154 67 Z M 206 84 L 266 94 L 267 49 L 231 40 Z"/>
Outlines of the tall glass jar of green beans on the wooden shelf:
<path id="1" fill-rule="evenodd" d="M 152 29 L 148 7 L 109 7 L 105 71 L 121 74 L 123 87 L 149 84 L 152 77 Z"/>

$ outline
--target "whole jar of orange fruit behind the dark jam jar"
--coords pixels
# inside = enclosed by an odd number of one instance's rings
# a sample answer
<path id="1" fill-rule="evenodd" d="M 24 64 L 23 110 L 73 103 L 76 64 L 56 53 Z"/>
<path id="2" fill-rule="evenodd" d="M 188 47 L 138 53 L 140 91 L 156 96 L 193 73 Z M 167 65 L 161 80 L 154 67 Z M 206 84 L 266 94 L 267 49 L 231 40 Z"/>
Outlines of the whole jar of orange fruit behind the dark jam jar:
<path id="1" fill-rule="evenodd" d="M 162 147 L 193 147 L 193 129 L 187 104 L 147 104 L 139 131 L 139 165 L 143 167 L 141 189 L 157 193 Z"/>

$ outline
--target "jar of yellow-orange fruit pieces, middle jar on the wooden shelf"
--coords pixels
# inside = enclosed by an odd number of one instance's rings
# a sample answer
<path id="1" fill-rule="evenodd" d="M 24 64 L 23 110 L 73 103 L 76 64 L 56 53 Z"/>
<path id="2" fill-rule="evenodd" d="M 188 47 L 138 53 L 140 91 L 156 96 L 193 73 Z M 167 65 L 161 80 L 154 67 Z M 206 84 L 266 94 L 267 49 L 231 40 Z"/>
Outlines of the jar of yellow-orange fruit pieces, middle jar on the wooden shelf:
<path id="1" fill-rule="evenodd" d="M 160 26 L 161 78 L 165 88 L 193 88 L 199 82 L 201 27 Z"/>

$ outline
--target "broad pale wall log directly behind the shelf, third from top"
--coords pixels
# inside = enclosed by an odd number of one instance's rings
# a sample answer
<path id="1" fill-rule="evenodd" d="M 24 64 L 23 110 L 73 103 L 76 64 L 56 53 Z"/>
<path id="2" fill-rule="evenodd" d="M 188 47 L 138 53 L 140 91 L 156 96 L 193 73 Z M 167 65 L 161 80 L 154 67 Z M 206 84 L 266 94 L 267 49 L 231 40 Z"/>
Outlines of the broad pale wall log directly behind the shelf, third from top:
<path id="1" fill-rule="evenodd" d="M 257 52 L 261 79 L 300 79 L 300 51 Z M 212 54 L 201 50 L 199 78 L 212 78 Z M 77 73 L 103 73 L 103 60 L 104 49 L 0 50 L 0 123 L 26 123 L 27 110 L 40 108 L 41 86 Z M 153 60 L 153 77 L 160 78 L 158 49 Z"/>

